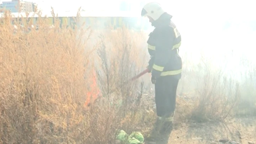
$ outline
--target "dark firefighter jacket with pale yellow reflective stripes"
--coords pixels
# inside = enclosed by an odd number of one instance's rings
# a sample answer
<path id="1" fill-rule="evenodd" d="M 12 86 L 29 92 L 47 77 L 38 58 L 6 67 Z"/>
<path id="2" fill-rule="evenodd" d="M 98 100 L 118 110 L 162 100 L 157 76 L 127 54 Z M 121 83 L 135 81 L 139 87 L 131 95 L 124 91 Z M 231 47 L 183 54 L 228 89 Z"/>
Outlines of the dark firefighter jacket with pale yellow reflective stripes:
<path id="1" fill-rule="evenodd" d="M 149 69 L 152 76 L 175 76 L 181 78 L 182 60 L 178 55 L 181 45 L 181 35 L 171 21 L 172 16 L 164 13 L 152 22 L 154 31 L 149 34 L 148 51 L 151 56 Z"/>

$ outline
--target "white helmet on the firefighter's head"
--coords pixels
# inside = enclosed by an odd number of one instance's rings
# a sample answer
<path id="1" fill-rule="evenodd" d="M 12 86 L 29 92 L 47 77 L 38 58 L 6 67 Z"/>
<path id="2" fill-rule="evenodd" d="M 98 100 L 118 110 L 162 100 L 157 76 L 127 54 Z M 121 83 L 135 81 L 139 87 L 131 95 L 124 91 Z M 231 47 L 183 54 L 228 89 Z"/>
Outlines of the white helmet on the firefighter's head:
<path id="1" fill-rule="evenodd" d="M 141 16 L 149 16 L 153 18 L 153 20 L 157 20 L 164 13 L 165 11 L 159 3 L 149 2 L 143 7 Z"/>

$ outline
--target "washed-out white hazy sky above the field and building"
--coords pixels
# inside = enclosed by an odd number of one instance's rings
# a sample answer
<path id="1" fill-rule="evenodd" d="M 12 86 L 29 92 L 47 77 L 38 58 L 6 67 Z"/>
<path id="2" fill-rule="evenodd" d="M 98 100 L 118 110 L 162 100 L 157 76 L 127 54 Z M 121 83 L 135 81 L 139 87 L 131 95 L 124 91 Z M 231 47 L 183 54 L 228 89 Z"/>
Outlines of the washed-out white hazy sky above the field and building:
<path id="1" fill-rule="evenodd" d="M 29 0 L 38 3 L 43 11 L 50 11 L 50 6 L 58 12 L 76 11 L 80 6 L 85 10 L 119 9 L 115 0 Z M 148 0 L 146 0 L 148 1 Z M 256 60 L 256 1 L 255 0 L 156 0 L 173 15 L 182 36 L 181 48 L 186 52 L 194 49 L 204 50 L 209 55 L 231 53 L 245 54 Z M 141 0 L 133 3 L 133 12 L 140 16 Z M 206 52 L 207 51 L 207 52 Z M 181 50 L 182 52 L 182 50 Z M 193 57 L 199 53 L 192 54 Z"/>

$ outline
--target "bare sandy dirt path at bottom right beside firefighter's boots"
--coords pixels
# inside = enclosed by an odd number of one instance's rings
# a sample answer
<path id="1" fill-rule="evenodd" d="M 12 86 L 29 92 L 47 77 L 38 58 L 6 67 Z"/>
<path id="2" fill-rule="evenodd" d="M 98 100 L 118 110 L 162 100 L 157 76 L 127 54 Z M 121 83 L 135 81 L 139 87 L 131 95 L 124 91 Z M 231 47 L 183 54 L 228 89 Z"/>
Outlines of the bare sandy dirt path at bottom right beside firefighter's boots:
<path id="1" fill-rule="evenodd" d="M 233 118 L 225 122 L 201 124 L 176 122 L 168 144 L 223 144 L 226 140 L 239 144 L 248 144 L 248 142 L 256 144 L 255 131 L 256 117 Z"/>

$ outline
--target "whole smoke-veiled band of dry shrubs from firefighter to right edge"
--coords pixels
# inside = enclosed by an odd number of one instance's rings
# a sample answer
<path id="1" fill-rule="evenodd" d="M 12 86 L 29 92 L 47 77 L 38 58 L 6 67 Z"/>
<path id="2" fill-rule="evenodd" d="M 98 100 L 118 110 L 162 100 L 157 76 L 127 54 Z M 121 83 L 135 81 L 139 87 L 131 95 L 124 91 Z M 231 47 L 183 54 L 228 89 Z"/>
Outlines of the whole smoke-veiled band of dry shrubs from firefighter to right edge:
<path id="1" fill-rule="evenodd" d="M 230 54 L 219 64 L 213 62 L 220 57 L 201 55 L 199 63 L 191 63 L 183 57 L 176 119 L 208 122 L 226 117 L 256 116 L 255 64 L 242 55 Z M 230 62 L 239 57 L 236 68 L 227 70 Z"/>

